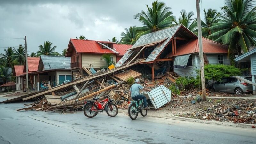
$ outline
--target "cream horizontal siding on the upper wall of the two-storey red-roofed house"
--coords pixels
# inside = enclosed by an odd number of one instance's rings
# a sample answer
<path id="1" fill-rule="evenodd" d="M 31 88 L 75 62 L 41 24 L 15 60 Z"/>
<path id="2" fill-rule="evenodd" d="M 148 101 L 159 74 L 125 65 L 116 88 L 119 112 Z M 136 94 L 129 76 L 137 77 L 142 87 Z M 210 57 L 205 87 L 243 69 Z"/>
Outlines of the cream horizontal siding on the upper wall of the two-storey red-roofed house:
<path id="1" fill-rule="evenodd" d="M 104 60 L 100 60 L 102 54 L 82 54 L 82 67 L 89 68 L 89 64 L 94 64 L 93 68 L 105 66 Z M 116 55 L 113 56 L 113 61 L 116 63 Z"/>

